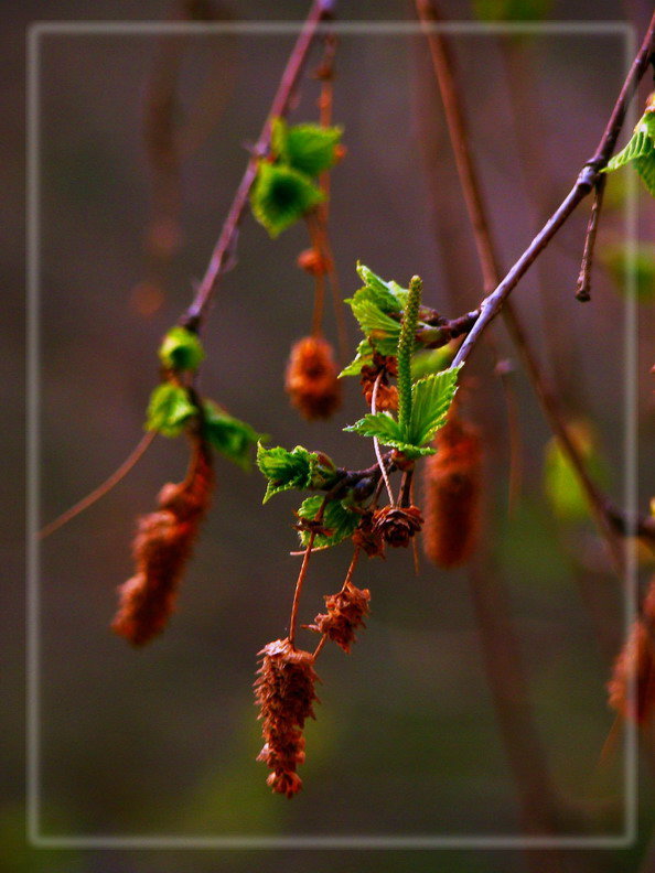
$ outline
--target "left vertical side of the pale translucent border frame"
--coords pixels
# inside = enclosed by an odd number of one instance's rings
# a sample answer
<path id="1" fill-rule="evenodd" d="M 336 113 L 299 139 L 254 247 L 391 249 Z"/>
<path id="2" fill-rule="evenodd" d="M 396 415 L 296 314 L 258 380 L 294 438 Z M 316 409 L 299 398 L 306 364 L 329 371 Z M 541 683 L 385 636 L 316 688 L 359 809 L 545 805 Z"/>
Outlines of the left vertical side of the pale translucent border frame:
<path id="1" fill-rule="evenodd" d="M 40 776 L 40 709 L 39 709 L 39 30 L 30 28 L 26 34 L 26 837 L 32 843 L 39 839 L 39 776 Z"/>

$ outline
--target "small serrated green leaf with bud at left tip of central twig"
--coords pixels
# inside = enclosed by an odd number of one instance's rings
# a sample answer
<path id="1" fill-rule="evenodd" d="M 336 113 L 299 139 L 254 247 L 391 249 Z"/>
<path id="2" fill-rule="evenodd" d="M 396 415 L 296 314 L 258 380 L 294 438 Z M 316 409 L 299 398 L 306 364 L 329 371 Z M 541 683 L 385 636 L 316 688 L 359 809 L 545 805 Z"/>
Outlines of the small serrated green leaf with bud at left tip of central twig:
<path id="1" fill-rule="evenodd" d="M 297 445 L 291 452 L 281 445 L 265 449 L 257 446 L 257 466 L 268 479 L 264 502 L 290 488 L 324 488 L 336 478 L 336 467 L 322 452 L 308 452 Z"/>

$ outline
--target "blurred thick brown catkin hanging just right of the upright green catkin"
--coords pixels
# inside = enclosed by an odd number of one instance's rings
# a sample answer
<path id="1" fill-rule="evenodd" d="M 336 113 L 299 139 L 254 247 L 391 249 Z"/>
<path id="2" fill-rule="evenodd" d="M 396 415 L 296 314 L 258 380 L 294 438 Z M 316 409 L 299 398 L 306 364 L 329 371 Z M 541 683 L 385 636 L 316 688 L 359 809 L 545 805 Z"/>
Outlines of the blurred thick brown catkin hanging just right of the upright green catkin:
<path id="1" fill-rule="evenodd" d="M 475 549 L 480 527 L 482 448 L 477 431 L 451 414 L 437 431 L 423 473 L 423 551 L 439 567 L 458 567 Z"/>

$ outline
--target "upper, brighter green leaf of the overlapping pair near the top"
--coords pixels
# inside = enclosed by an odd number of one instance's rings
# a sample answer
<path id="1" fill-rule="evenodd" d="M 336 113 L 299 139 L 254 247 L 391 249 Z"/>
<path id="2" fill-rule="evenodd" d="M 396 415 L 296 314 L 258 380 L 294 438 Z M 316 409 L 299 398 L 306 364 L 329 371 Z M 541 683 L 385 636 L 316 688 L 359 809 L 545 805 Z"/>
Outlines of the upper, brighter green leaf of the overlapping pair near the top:
<path id="1" fill-rule="evenodd" d="M 271 146 L 276 158 L 308 176 L 316 176 L 335 161 L 335 147 L 343 133 L 339 127 L 294 125 L 283 118 L 272 122 Z"/>

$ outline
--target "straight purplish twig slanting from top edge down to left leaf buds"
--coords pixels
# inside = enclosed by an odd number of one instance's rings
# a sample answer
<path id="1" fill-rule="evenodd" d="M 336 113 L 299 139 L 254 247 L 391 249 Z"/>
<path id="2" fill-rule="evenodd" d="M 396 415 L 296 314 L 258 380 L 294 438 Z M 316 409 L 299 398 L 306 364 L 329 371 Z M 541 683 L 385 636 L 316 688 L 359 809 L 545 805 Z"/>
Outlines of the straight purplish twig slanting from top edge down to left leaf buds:
<path id="1" fill-rule="evenodd" d="M 214 247 L 210 263 L 205 274 L 197 288 L 194 300 L 189 309 L 180 319 L 180 324 L 191 331 L 200 330 L 202 320 L 206 313 L 212 298 L 216 291 L 216 285 L 226 261 L 234 256 L 234 242 L 244 211 L 248 203 L 248 195 L 257 175 L 257 163 L 259 157 L 268 151 L 271 136 L 271 119 L 283 117 L 289 110 L 289 105 L 298 82 L 300 79 L 307 56 L 319 31 L 322 21 L 330 18 L 334 10 L 334 0 L 314 0 L 304 26 L 293 51 L 287 62 L 287 67 L 280 79 L 276 96 L 272 100 L 268 118 L 264 125 L 259 139 L 254 148 L 254 154 L 248 161 L 248 165 L 239 183 L 235 197 L 232 202 L 227 217 L 221 230 L 218 241 Z"/>

